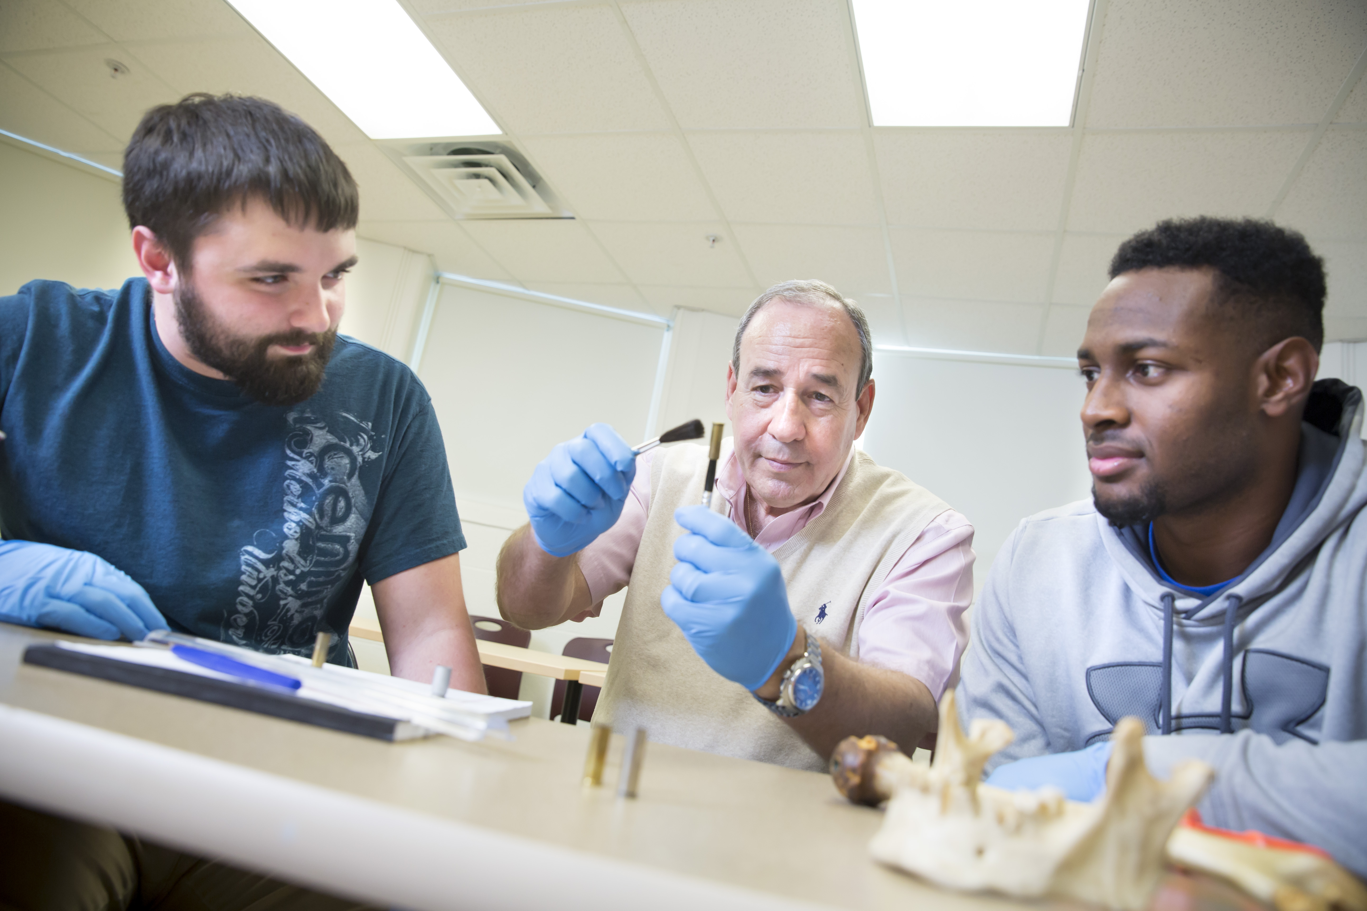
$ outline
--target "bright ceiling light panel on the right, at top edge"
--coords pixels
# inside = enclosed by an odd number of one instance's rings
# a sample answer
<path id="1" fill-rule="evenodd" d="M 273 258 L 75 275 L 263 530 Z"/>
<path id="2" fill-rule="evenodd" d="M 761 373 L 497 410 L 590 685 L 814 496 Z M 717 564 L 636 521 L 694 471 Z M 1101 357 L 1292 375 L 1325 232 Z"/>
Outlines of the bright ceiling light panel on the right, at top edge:
<path id="1" fill-rule="evenodd" d="M 852 0 L 875 127 L 1066 127 L 1089 0 Z"/>

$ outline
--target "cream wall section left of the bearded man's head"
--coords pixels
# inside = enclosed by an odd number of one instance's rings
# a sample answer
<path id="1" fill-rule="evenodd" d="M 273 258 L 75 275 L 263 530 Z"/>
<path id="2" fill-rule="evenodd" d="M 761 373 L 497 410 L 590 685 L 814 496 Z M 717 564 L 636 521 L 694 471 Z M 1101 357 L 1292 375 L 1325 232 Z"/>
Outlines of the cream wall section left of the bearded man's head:
<path id="1" fill-rule="evenodd" d="M 33 279 L 118 288 L 141 275 L 119 182 L 97 175 L 0 141 L 0 296 Z"/>

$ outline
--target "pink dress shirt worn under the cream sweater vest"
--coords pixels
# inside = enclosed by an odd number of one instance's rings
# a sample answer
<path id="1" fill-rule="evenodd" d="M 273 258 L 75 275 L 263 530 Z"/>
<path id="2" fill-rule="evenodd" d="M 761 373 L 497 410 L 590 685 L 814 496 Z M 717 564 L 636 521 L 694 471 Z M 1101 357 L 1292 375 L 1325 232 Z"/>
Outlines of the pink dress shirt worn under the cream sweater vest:
<path id="1" fill-rule="evenodd" d="M 653 452 L 636 462 L 636 479 L 611 529 L 580 552 L 580 571 L 589 585 L 593 609 L 576 617 L 597 616 L 603 598 L 626 587 L 636 564 L 636 552 L 651 511 L 651 464 Z M 853 452 L 850 453 L 853 458 Z M 770 519 L 756 535 L 756 544 L 772 552 L 822 515 L 827 501 L 849 468 L 835 475 L 815 503 Z M 730 518 L 745 529 L 745 479 L 730 438 L 722 444 L 716 492 L 726 497 Z M 908 673 L 939 701 L 958 679 L 958 660 L 968 645 L 964 612 L 973 601 L 973 526 L 958 512 L 946 509 L 921 531 L 893 565 L 883 586 L 874 594 L 858 631 L 858 660 Z"/>

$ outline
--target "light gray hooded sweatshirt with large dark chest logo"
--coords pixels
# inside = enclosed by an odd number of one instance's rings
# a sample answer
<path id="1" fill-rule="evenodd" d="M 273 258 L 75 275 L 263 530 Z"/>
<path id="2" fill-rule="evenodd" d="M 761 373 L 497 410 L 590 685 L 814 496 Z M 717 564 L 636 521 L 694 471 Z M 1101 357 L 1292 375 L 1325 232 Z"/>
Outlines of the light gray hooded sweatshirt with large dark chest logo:
<path id="1" fill-rule="evenodd" d="M 1367 470 L 1362 393 L 1311 391 L 1296 489 L 1267 550 L 1219 591 L 1162 579 L 1147 526 L 1080 501 L 1017 526 L 992 563 L 960 720 L 1016 740 L 988 769 L 1148 725 L 1158 777 L 1215 768 L 1207 824 L 1319 845 L 1367 875 Z"/>

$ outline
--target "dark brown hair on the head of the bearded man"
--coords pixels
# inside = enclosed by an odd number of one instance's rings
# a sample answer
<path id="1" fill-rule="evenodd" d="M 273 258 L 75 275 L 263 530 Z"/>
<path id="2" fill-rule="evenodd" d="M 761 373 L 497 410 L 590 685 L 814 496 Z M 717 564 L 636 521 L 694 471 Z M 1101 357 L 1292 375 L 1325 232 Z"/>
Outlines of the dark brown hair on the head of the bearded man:
<path id="1" fill-rule="evenodd" d="M 142 116 L 123 152 L 123 209 L 182 272 L 195 238 L 249 199 L 319 231 L 354 228 L 361 209 L 342 158 L 273 101 L 194 93 Z"/>

